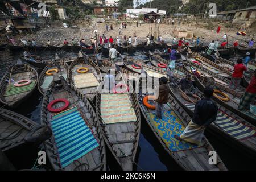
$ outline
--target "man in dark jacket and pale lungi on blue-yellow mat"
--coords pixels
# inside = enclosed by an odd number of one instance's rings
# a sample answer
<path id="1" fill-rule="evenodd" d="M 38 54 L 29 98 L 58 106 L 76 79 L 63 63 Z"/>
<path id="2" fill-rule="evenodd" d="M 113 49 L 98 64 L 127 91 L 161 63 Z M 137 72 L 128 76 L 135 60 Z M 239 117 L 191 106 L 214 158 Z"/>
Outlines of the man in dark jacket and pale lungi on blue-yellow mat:
<path id="1" fill-rule="evenodd" d="M 205 127 L 217 118 L 218 106 L 210 99 L 213 96 L 213 88 L 204 89 L 204 98 L 196 102 L 192 120 L 188 123 L 183 133 L 174 135 L 177 140 L 200 145 Z"/>

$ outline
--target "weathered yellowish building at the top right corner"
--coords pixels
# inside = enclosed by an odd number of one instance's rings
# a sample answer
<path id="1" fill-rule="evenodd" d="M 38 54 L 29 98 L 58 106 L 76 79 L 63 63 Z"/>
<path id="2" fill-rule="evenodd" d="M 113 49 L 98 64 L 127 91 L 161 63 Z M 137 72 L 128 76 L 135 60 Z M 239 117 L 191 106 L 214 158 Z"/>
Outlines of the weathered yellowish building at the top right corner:
<path id="1" fill-rule="evenodd" d="M 232 23 L 240 23 L 244 26 L 250 26 L 256 21 L 256 6 L 247 7 L 245 9 L 236 10 Z"/>

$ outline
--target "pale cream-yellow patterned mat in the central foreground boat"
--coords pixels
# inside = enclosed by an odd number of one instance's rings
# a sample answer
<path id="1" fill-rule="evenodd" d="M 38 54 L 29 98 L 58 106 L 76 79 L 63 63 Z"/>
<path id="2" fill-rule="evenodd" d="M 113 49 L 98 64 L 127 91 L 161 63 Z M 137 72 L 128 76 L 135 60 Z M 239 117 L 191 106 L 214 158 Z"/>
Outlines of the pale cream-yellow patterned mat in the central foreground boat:
<path id="1" fill-rule="evenodd" d="M 137 120 L 128 94 L 101 94 L 101 117 L 105 124 Z"/>

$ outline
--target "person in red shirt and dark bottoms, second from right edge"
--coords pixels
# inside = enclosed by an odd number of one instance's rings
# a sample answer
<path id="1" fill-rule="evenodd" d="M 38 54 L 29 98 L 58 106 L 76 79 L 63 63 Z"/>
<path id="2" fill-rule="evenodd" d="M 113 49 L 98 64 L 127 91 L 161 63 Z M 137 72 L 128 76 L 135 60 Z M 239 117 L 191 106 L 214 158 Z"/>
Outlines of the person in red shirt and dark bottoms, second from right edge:
<path id="1" fill-rule="evenodd" d="M 236 90 L 238 86 L 240 85 L 240 82 L 243 77 L 243 71 L 246 71 L 247 68 L 245 65 L 243 65 L 243 60 L 238 58 L 237 64 L 234 65 L 234 72 L 231 77 L 229 88 Z"/>

